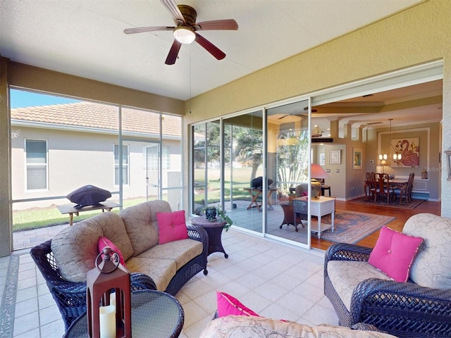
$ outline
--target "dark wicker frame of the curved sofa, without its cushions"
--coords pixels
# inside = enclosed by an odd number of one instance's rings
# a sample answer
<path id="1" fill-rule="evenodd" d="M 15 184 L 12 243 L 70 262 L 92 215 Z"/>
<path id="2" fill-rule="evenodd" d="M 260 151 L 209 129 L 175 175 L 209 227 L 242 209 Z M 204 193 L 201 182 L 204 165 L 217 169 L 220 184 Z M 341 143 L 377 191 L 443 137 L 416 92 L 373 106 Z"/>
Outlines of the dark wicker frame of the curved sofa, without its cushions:
<path id="1" fill-rule="evenodd" d="M 187 225 L 187 228 L 190 239 L 202 242 L 203 251 L 175 273 L 164 290 L 173 296 L 200 271 L 204 270 L 204 275 L 208 273 L 206 270 L 208 235 L 202 227 Z M 33 247 L 30 255 L 47 282 L 47 287 L 56 301 L 67 330 L 70 324 L 86 311 L 86 282 L 69 282 L 63 279 L 51 251 L 51 239 Z M 156 290 L 156 285 L 152 277 L 142 273 L 132 273 L 130 289 L 132 292 L 142 289 Z"/>

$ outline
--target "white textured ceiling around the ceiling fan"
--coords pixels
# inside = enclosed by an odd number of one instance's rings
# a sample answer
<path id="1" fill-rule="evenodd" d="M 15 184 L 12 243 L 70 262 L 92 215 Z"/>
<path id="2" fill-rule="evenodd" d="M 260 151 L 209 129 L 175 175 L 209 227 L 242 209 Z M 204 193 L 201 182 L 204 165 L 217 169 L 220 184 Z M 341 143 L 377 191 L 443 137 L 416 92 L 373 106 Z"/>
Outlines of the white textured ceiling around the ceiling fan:
<path id="1" fill-rule="evenodd" d="M 129 27 L 173 25 L 158 0 L 0 0 L 0 55 L 12 61 L 189 99 L 373 23 L 420 0 L 176 0 L 197 22 L 233 18 L 237 31 L 200 34 L 227 55 L 199 44 L 164 61 L 171 31 L 125 35 Z"/>

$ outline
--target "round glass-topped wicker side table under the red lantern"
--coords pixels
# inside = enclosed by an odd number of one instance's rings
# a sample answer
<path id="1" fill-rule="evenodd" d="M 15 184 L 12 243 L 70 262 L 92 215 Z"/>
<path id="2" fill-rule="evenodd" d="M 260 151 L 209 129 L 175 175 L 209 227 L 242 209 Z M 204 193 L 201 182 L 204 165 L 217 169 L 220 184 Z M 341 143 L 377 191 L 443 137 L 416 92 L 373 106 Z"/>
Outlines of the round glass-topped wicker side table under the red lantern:
<path id="1" fill-rule="evenodd" d="M 133 337 L 176 338 L 182 332 L 185 313 L 171 294 L 156 290 L 132 292 Z M 63 338 L 88 337 L 86 313 L 73 322 Z"/>

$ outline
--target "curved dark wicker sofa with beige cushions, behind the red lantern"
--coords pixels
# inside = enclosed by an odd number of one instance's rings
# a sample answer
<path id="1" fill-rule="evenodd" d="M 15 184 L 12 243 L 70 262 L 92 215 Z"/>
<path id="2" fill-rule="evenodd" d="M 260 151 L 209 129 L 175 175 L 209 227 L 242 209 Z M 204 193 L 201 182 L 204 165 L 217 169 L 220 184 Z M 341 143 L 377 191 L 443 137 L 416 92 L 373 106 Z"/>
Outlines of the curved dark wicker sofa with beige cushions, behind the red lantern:
<path id="1" fill-rule="evenodd" d="M 99 237 L 121 251 L 131 273 L 131 289 L 158 289 L 177 294 L 194 275 L 204 270 L 208 235 L 202 227 L 187 225 L 189 239 L 159 244 L 156 213 L 171 212 L 166 201 L 149 201 L 116 213 L 100 213 L 31 249 L 66 329 L 86 311 L 86 273 L 94 268 Z"/>

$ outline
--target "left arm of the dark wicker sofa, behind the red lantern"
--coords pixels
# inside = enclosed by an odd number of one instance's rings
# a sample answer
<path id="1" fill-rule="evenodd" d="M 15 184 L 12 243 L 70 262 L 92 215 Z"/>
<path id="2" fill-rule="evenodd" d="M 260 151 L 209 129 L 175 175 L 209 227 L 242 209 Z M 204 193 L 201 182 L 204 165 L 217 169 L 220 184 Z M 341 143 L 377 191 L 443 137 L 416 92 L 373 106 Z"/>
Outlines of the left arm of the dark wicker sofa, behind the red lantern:
<path id="1" fill-rule="evenodd" d="M 47 282 L 67 330 L 75 319 L 86 312 L 86 283 L 69 282 L 61 277 L 51 251 L 51 239 L 33 247 L 30 255 Z M 140 289 L 156 290 L 154 281 L 147 275 L 132 273 L 130 278 L 132 292 Z"/>

